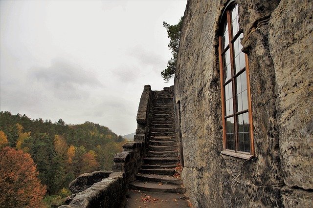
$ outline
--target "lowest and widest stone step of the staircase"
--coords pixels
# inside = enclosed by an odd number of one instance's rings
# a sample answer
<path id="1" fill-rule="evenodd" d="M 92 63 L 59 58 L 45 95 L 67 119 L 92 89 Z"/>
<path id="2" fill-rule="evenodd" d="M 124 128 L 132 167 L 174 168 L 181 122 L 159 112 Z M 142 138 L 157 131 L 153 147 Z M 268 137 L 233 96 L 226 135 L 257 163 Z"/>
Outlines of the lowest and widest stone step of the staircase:
<path id="1" fill-rule="evenodd" d="M 182 185 L 162 184 L 158 182 L 134 181 L 129 184 L 129 187 L 134 190 L 151 192 L 185 193 L 186 191 L 186 188 L 182 187 Z"/>

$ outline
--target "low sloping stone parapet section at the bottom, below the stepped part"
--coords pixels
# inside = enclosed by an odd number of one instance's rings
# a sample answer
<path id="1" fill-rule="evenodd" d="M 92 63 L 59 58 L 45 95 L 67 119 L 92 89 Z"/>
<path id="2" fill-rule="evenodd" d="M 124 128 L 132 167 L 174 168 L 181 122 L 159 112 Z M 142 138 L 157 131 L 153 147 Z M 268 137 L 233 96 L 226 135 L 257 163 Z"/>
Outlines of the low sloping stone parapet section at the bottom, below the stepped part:
<path id="1" fill-rule="evenodd" d="M 121 208 L 126 203 L 126 183 L 122 172 L 114 172 L 109 178 L 93 184 L 76 194 L 69 205 L 59 208 Z"/>

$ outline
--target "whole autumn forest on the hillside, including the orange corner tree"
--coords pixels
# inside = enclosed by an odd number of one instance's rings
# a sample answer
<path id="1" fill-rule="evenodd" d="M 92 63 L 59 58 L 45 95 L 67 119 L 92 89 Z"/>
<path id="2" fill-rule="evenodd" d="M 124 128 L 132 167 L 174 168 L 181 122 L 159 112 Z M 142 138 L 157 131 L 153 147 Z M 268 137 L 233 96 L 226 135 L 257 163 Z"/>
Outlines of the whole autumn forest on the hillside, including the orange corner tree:
<path id="1" fill-rule="evenodd" d="M 106 126 L 0 112 L 0 207 L 55 207 L 82 173 L 111 170 L 126 141 Z"/>

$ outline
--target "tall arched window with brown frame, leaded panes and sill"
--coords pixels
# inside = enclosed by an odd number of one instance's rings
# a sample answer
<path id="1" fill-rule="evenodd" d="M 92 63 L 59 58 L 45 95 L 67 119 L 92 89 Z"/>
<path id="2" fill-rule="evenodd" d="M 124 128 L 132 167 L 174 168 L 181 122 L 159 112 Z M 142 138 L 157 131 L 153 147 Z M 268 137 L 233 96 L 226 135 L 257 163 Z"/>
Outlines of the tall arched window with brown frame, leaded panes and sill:
<path id="1" fill-rule="evenodd" d="M 223 154 L 251 159 L 254 155 L 247 55 L 241 51 L 243 32 L 238 5 L 231 1 L 220 23 L 219 59 L 223 115 Z"/>

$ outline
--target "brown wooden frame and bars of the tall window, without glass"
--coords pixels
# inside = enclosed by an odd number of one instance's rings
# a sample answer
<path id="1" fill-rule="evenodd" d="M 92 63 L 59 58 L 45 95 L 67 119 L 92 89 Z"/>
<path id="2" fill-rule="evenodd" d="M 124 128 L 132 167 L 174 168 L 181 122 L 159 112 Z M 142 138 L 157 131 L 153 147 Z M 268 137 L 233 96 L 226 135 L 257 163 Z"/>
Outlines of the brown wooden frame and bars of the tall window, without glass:
<path id="1" fill-rule="evenodd" d="M 222 154 L 238 157 L 246 160 L 252 159 L 254 154 L 254 141 L 253 141 L 253 123 L 252 123 L 252 104 L 251 104 L 251 93 L 250 93 L 250 78 L 249 78 L 249 65 L 248 65 L 248 57 L 245 54 L 245 67 L 241 68 L 238 72 L 235 70 L 235 63 L 234 63 L 234 42 L 239 39 L 239 36 L 243 33 L 242 29 L 238 28 L 238 32 L 236 34 L 233 34 L 233 29 L 231 26 L 232 19 L 231 19 L 231 11 L 235 6 L 238 6 L 237 2 L 232 0 L 230 1 L 222 14 L 221 21 L 219 24 L 219 65 L 220 65 L 220 81 L 221 81 L 221 97 L 222 97 L 222 117 L 223 117 L 223 151 Z M 238 21 L 238 20 L 237 20 Z M 222 38 L 224 36 L 224 25 L 226 25 L 227 22 L 227 28 L 228 28 L 228 45 L 224 46 L 222 42 Z M 225 29 L 226 30 L 226 29 Z M 226 36 L 225 36 L 226 38 Z M 240 40 L 239 40 L 240 41 Z M 239 42 L 240 44 L 240 42 Z M 222 48 L 224 47 L 224 48 Z M 229 80 L 224 81 L 224 63 L 223 63 L 223 55 L 226 54 L 227 50 L 229 50 L 230 54 L 230 70 L 231 70 L 231 78 Z M 239 56 L 239 54 L 237 54 Z M 236 78 L 239 77 L 241 74 L 246 73 L 246 86 L 247 86 L 247 110 L 242 110 L 240 112 L 237 112 L 237 85 L 236 85 Z M 224 86 L 231 83 L 232 85 L 232 99 L 233 99 L 233 112 L 230 115 L 226 115 L 226 106 L 225 106 L 225 89 Z M 249 121 L 249 136 L 250 136 L 250 151 L 249 152 L 243 152 L 238 151 L 238 115 L 243 115 L 244 113 L 248 113 L 248 121 Z M 233 118 L 234 120 L 234 150 L 227 149 L 226 144 L 226 119 L 227 118 Z"/>

